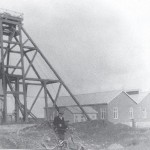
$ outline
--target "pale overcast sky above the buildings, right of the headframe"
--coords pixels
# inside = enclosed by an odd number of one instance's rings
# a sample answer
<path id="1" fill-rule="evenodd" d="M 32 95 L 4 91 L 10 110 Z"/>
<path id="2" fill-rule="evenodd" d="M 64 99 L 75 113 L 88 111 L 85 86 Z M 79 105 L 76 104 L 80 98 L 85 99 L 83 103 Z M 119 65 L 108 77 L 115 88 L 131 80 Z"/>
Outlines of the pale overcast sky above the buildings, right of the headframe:
<path id="1" fill-rule="evenodd" d="M 150 1 L 0 0 L 73 93 L 150 90 Z"/>

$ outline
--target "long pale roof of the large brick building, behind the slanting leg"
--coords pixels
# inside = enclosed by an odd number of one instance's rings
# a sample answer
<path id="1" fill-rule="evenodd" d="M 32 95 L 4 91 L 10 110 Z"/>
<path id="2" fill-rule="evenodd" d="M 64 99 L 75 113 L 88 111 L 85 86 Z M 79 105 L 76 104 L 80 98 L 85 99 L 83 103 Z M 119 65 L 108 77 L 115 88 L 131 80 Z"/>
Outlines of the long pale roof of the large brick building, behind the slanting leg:
<path id="1" fill-rule="evenodd" d="M 88 94 L 75 95 L 75 97 L 81 105 L 108 104 L 121 92 L 122 91 L 88 93 Z M 58 106 L 73 106 L 73 105 L 76 105 L 76 103 L 70 96 L 61 96 L 57 100 L 57 105 Z"/>

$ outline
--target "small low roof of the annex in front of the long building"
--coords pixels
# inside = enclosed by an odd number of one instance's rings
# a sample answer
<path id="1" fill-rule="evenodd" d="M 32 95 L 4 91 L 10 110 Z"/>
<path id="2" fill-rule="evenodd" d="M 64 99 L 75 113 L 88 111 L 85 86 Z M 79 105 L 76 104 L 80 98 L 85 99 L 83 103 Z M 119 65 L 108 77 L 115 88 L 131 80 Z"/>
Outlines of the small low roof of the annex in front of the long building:
<path id="1" fill-rule="evenodd" d="M 70 110 L 73 114 L 81 114 L 82 111 L 79 107 L 77 106 L 73 106 L 73 107 L 67 107 L 68 110 Z M 92 107 L 90 106 L 85 106 L 85 107 L 82 107 L 84 109 L 84 111 L 87 113 L 87 114 L 96 114 L 98 113 L 95 109 L 93 109 Z"/>

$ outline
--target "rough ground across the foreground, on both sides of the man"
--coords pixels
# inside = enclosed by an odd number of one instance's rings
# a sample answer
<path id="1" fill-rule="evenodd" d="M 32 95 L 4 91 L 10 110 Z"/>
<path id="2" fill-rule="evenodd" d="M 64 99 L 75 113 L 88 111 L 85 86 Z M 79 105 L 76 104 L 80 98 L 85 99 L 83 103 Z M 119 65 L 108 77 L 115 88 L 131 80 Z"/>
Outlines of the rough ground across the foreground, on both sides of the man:
<path id="1" fill-rule="evenodd" d="M 78 137 L 74 136 L 75 142 L 82 144 L 86 150 L 150 149 L 149 129 L 134 129 L 102 121 L 76 123 L 72 126 L 76 129 L 74 135 Z M 43 144 L 48 147 L 56 145 L 54 139 L 54 132 L 47 122 L 0 126 L 1 149 L 45 149 Z"/>

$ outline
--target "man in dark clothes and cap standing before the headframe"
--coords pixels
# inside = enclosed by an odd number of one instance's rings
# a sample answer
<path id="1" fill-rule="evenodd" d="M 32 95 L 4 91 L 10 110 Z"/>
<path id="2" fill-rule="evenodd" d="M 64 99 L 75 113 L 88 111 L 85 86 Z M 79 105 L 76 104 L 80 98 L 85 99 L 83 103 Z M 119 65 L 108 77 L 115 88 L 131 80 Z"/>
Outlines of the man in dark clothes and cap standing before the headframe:
<path id="1" fill-rule="evenodd" d="M 66 131 L 66 124 L 65 124 L 65 120 L 63 117 L 64 112 L 63 111 L 59 111 L 58 116 L 56 116 L 54 118 L 54 130 L 58 135 L 58 138 L 60 140 L 64 140 L 65 139 L 65 131 Z"/>

